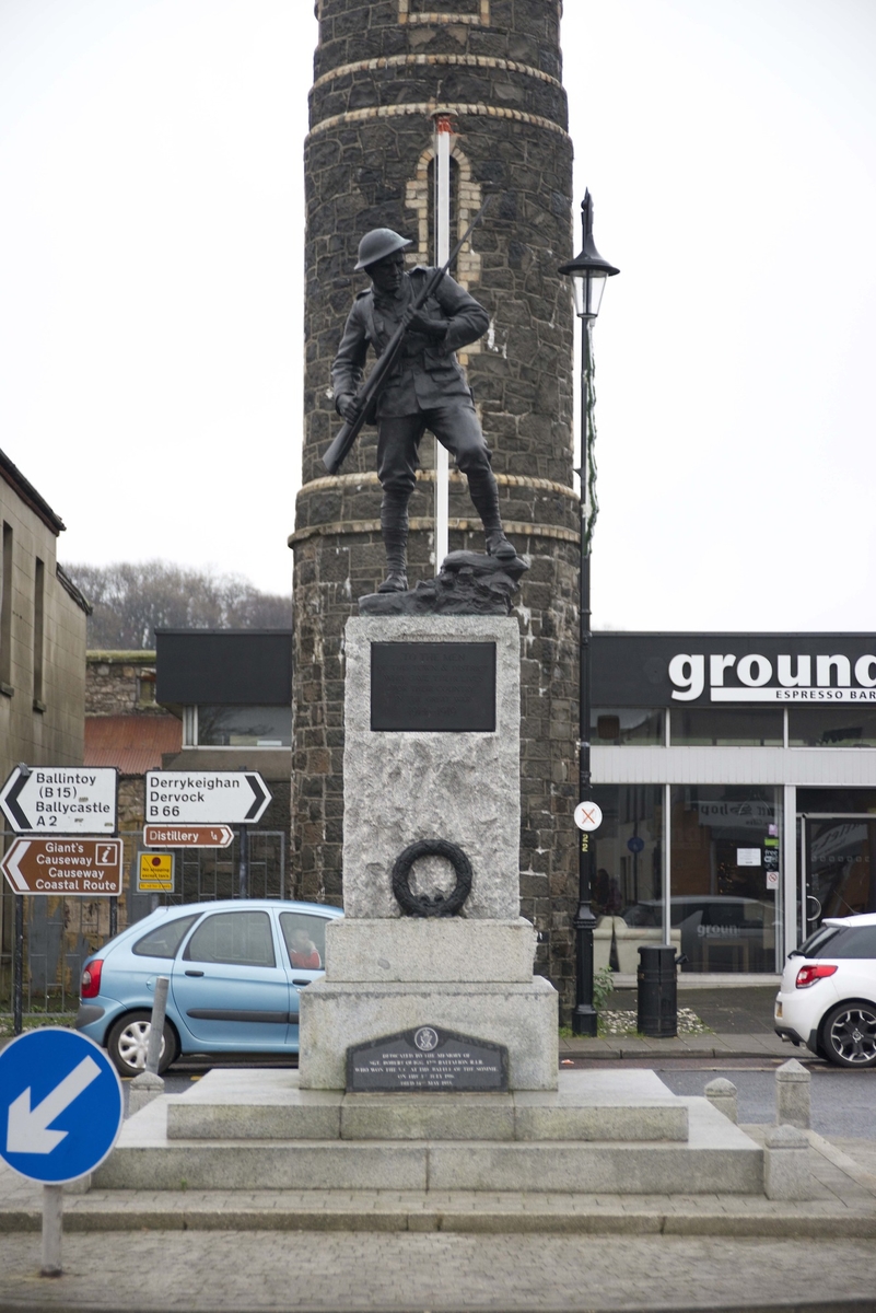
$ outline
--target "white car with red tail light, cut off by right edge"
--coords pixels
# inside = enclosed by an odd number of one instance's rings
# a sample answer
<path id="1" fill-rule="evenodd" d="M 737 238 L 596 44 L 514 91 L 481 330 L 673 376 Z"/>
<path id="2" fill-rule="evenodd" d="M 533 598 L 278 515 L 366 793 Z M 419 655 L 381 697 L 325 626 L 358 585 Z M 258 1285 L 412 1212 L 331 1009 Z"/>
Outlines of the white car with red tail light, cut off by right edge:
<path id="1" fill-rule="evenodd" d="M 876 1066 L 876 913 L 829 916 L 788 955 L 775 1032 L 838 1066 Z"/>

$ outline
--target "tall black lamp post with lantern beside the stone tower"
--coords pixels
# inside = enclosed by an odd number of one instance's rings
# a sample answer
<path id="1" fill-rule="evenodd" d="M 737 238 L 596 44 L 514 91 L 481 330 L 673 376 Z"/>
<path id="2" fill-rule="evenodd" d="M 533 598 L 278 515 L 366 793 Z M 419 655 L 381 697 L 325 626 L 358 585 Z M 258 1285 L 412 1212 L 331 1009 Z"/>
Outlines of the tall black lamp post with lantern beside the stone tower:
<path id="1" fill-rule="evenodd" d="M 572 1029 L 576 1035 L 597 1033 L 597 1012 L 593 1006 L 593 927 L 597 923 L 590 907 L 593 876 L 595 865 L 595 829 L 593 813 L 587 815 L 586 804 L 593 798 L 590 780 L 590 544 L 597 519 L 595 465 L 593 461 L 593 348 L 590 332 L 599 314 L 599 303 L 606 278 L 619 273 L 614 265 L 603 260 L 593 243 L 593 200 L 585 192 L 581 202 L 581 227 L 584 244 L 581 252 L 569 264 L 560 265 L 559 272 L 572 277 L 574 289 L 574 311 L 581 320 L 581 600 L 580 600 L 580 672 L 578 672 L 578 798 L 580 810 L 585 814 L 578 821 L 581 842 L 578 846 L 578 910 L 574 914 L 576 932 L 576 990 Z M 581 807 L 581 804 L 585 804 Z M 598 823 L 598 817 L 595 817 Z"/>

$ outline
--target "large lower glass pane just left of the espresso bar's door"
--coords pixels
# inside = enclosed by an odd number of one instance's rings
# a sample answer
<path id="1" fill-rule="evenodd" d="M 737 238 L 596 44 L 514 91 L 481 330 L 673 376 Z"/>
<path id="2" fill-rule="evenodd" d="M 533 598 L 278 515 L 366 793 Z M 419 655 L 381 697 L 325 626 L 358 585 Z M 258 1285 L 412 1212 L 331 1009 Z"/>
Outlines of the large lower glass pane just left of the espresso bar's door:
<path id="1" fill-rule="evenodd" d="M 688 972 L 775 972 L 780 807 L 768 786 L 675 785 L 671 909 Z"/>

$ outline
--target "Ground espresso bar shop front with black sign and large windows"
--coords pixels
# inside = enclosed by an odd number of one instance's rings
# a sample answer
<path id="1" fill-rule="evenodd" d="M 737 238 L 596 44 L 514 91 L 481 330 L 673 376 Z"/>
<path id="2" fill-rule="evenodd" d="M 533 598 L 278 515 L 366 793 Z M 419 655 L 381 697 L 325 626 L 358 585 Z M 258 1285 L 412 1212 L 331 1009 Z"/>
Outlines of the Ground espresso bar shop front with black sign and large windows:
<path id="1" fill-rule="evenodd" d="M 775 976 L 824 916 L 876 911 L 875 654 L 862 634 L 594 635 L 593 909 L 622 972 L 661 939 L 687 973 Z"/>

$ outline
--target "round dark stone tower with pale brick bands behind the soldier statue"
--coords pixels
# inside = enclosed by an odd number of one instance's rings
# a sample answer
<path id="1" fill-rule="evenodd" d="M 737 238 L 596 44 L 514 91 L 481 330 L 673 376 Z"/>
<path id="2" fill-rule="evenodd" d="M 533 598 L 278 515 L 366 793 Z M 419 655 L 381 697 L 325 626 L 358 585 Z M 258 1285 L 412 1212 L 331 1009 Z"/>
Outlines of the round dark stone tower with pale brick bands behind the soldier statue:
<path id="1" fill-rule="evenodd" d="M 434 117 L 450 116 L 451 243 L 493 193 L 454 276 L 488 310 L 468 372 L 506 533 L 530 561 L 517 614 L 522 674 L 521 913 L 539 969 L 573 989 L 577 893 L 578 498 L 572 471 L 572 306 L 556 269 L 573 253 L 572 143 L 560 0 L 317 0 L 306 143 L 303 486 L 295 532 L 292 869 L 296 895 L 341 901 L 344 625 L 383 578 L 375 429 L 340 475 L 320 461 L 340 421 L 330 364 L 354 294 L 359 236 L 413 239 L 434 264 Z M 410 500 L 409 576 L 434 578 L 434 446 Z M 451 471 L 450 549 L 483 551 Z M 380 798 L 374 800 L 380 823 Z"/>

